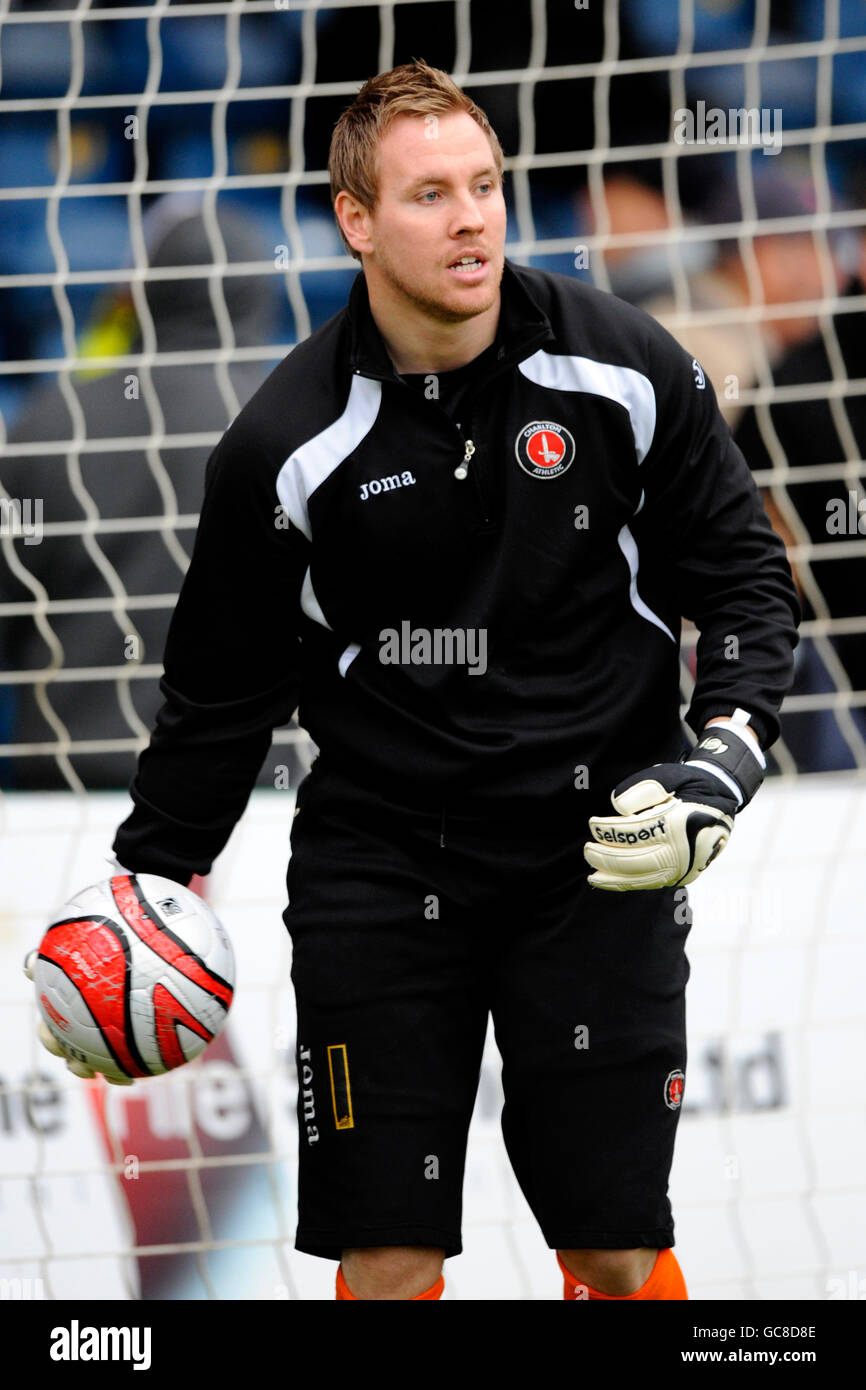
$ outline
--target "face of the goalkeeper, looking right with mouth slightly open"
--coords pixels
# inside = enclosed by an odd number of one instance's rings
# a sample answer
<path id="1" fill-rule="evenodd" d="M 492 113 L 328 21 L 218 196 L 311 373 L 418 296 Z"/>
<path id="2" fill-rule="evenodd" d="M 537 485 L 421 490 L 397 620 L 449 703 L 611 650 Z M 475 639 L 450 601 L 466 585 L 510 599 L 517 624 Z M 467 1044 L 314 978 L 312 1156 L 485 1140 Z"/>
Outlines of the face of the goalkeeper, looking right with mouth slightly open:
<path id="1" fill-rule="evenodd" d="M 378 202 L 367 214 L 364 272 L 442 322 L 496 304 L 506 211 L 493 152 L 464 111 L 400 115 L 378 147 Z M 471 257 L 470 264 L 460 264 Z"/>

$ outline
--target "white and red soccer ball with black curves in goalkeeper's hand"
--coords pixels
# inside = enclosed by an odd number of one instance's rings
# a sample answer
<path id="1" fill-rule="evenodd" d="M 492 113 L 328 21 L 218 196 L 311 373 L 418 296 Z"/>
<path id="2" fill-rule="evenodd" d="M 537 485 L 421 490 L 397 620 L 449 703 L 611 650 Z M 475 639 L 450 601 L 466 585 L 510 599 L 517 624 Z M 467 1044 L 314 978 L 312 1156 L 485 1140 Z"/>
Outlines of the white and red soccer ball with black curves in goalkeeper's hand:
<path id="1" fill-rule="evenodd" d="M 128 1081 L 192 1062 L 217 1036 L 232 1002 L 235 958 L 196 892 L 156 874 L 121 873 L 67 902 L 28 958 L 28 973 L 46 1047 L 78 1074 L 90 1068 Z"/>

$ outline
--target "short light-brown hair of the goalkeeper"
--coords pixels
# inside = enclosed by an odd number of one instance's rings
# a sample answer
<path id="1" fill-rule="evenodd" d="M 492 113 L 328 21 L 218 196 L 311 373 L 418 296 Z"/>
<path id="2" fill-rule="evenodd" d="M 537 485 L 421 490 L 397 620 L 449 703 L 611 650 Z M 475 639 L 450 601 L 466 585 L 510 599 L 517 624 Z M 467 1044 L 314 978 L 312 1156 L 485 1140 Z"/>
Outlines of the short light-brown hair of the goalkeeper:
<path id="1" fill-rule="evenodd" d="M 346 107 L 336 122 L 328 154 L 331 204 L 345 190 L 371 211 L 378 197 L 378 145 L 392 121 L 398 115 L 448 115 L 452 111 L 466 111 L 481 126 L 491 142 L 502 181 L 502 146 L 481 107 L 442 68 L 431 68 L 424 58 L 414 58 L 364 82 L 352 106 Z M 354 260 L 361 259 L 345 236 L 343 245 Z"/>

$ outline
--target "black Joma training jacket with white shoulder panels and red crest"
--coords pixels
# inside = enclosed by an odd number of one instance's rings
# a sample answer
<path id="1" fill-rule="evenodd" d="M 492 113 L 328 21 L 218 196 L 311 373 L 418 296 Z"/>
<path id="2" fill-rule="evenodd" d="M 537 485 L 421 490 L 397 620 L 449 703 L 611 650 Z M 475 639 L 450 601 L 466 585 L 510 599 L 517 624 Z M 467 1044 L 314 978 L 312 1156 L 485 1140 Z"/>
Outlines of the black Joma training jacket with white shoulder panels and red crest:
<path id="1" fill-rule="evenodd" d="M 741 708 L 777 738 L 791 573 L 674 339 L 506 263 L 457 418 L 435 378 L 395 374 L 363 275 L 240 411 L 207 466 L 165 703 L 114 844 L 126 869 L 206 873 L 296 709 L 320 764 L 373 799 L 609 810 L 620 777 L 683 751 L 683 616 L 701 631 L 692 730 Z M 438 663 L 406 660 L 423 632 L 445 634 Z M 466 660 L 449 632 L 473 634 Z"/>

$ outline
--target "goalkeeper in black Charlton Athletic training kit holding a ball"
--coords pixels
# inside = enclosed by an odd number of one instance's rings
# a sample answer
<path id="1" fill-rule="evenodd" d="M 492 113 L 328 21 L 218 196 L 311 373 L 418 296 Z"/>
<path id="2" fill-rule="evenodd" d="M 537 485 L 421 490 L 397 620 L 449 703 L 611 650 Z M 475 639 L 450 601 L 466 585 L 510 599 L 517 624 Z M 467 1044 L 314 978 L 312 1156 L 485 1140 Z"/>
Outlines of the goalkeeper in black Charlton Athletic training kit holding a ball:
<path id="1" fill-rule="evenodd" d="M 784 549 L 667 334 L 505 263 L 502 152 L 443 72 L 366 83 L 331 174 L 363 274 L 211 456 L 115 853 L 207 873 L 300 702 L 297 1248 L 341 1298 L 439 1297 L 492 1012 L 564 1295 L 684 1298 L 680 885 L 777 737 Z M 721 726 L 688 762 L 681 613 Z"/>

